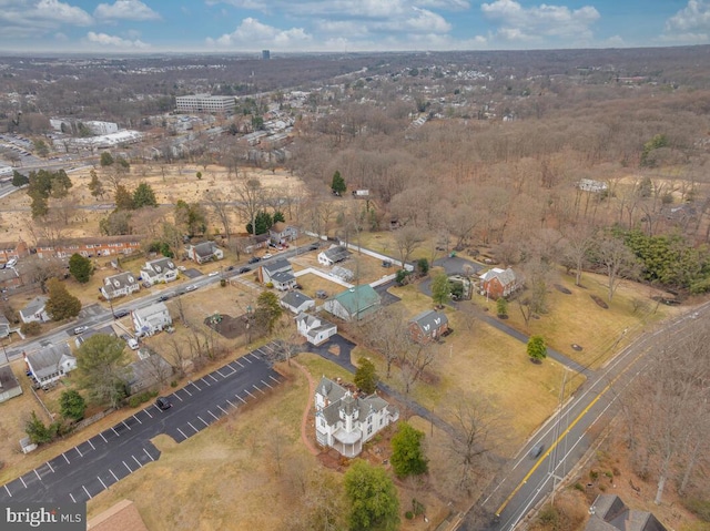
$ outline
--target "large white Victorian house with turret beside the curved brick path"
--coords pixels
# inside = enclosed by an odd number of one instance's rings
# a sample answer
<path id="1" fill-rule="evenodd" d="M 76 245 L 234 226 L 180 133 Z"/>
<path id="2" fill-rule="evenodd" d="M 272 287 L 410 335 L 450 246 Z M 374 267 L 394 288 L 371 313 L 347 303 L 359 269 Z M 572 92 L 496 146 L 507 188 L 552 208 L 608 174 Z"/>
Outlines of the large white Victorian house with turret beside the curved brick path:
<path id="1" fill-rule="evenodd" d="M 398 418 L 397 408 L 377 395 L 354 395 L 326 377 L 316 387 L 316 440 L 344 457 L 358 456 L 365 442 Z"/>

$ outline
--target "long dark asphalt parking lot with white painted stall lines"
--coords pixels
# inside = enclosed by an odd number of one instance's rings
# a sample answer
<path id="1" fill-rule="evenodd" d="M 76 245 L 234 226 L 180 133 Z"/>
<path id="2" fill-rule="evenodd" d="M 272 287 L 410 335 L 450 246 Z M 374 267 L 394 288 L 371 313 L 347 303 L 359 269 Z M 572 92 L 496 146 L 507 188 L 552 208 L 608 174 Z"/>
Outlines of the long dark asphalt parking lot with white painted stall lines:
<path id="1" fill-rule="evenodd" d="M 262 347 L 262 348 L 268 348 Z M 81 502 L 160 459 L 150 439 L 166 433 L 182 442 L 243 405 L 277 387 L 283 378 L 254 350 L 172 395 L 172 407 L 154 404 L 0 487 L 0 502 Z"/>

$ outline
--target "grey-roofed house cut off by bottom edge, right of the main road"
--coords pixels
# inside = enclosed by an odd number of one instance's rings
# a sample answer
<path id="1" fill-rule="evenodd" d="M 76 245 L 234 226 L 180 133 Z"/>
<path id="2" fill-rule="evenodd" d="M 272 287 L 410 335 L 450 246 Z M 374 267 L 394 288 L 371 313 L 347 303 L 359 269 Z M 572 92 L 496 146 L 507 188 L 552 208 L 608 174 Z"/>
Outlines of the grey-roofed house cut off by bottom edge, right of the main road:
<path id="1" fill-rule="evenodd" d="M 585 531 L 667 531 L 652 513 L 629 509 L 616 494 L 599 494 L 589 514 Z"/>

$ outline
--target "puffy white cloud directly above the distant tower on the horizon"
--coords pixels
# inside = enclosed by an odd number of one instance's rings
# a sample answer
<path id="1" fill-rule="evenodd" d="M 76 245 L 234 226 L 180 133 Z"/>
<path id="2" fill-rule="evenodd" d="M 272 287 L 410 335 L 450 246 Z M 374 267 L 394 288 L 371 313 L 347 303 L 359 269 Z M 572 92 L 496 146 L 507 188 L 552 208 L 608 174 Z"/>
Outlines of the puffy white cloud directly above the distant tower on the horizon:
<path id="1" fill-rule="evenodd" d="M 257 19 L 246 18 L 232 32 L 225 33 L 217 39 L 206 39 L 210 45 L 221 47 L 246 47 L 248 49 L 257 49 L 262 47 L 276 45 L 281 49 L 291 47 L 302 47 L 312 41 L 312 35 L 303 28 L 291 28 L 290 30 L 281 30 L 273 25 L 260 22 Z"/>

